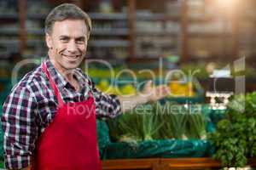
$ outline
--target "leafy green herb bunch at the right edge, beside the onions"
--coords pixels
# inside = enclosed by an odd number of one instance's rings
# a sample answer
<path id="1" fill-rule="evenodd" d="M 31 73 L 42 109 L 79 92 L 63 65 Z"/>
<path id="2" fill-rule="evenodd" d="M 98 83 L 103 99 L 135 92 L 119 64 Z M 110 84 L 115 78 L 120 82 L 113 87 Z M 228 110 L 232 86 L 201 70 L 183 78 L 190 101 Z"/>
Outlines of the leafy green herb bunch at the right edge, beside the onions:
<path id="1" fill-rule="evenodd" d="M 256 93 L 235 96 L 208 139 L 216 148 L 213 157 L 225 167 L 244 167 L 256 156 Z"/>

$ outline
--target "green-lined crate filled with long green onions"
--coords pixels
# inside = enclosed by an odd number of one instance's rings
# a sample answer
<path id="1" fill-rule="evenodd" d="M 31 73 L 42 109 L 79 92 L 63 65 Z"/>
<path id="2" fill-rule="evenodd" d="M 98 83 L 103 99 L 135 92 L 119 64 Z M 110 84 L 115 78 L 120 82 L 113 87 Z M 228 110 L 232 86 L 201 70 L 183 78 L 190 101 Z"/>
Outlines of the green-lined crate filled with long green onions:
<path id="1" fill-rule="evenodd" d="M 102 159 L 211 156 L 208 112 L 202 105 L 141 105 L 97 122 Z M 209 122 L 210 123 L 210 122 Z"/>

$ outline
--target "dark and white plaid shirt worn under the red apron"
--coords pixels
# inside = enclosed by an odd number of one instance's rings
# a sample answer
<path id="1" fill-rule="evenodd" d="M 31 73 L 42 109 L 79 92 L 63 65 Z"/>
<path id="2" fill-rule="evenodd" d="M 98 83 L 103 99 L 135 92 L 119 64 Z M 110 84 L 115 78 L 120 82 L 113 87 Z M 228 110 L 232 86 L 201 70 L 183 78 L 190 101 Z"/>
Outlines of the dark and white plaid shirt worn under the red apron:
<path id="1" fill-rule="evenodd" d="M 79 68 L 75 70 L 75 77 L 81 85 L 81 91 L 76 92 L 55 70 L 49 59 L 46 59 L 46 66 L 64 102 L 83 101 L 92 92 L 96 101 L 97 117 L 114 117 L 120 114 L 121 107 L 117 97 L 98 91 Z M 56 96 L 42 65 L 27 73 L 15 85 L 3 105 L 3 148 L 7 168 L 19 169 L 32 164 L 38 136 L 53 121 L 57 105 Z"/>

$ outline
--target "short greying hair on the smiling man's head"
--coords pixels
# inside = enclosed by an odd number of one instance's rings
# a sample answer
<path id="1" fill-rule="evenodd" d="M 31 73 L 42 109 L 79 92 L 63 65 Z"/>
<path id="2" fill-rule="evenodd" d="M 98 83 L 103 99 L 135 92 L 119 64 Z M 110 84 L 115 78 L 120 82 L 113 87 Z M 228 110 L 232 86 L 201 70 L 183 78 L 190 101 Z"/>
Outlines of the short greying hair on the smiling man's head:
<path id="1" fill-rule="evenodd" d="M 51 34 L 55 21 L 62 21 L 67 19 L 84 20 L 88 30 L 87 36 L 90 36 L 91 20 L 89 15 L 72 3 L 63 3 L 49 12 L 44 22 L 44 32 Z"/>

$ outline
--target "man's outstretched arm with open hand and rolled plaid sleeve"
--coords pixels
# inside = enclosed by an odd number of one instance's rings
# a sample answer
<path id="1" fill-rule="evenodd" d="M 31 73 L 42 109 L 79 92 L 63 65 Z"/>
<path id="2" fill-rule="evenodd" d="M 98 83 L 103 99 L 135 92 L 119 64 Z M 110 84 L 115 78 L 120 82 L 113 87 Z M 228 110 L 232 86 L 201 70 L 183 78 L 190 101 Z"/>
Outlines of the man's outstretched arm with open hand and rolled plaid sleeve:
<path id="1" fill-rule="evenodd" d="M 87 75 L 84 76 L 90 80 Z M 96 116 L 101 117 L 113 118 L 137 105 L 162 99 L 169 94 L 169 88 L 166 85 L 152 87 L 152 81 L 145 84 L 141 93 L 130 97 L 104 94 L 95 87 L 94 82 L 89 81 L 89 84 L 96 99 Z"/>

